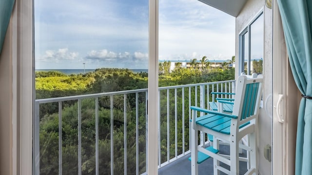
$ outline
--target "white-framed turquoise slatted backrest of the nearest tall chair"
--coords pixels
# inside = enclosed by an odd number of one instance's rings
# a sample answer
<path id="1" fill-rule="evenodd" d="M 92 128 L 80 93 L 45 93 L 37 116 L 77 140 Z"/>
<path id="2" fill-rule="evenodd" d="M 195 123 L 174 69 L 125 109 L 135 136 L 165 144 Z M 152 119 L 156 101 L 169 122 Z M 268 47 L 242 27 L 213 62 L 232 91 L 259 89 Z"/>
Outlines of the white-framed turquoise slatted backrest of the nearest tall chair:
<path id="1" fill-rule="evenodd" d="M 241 75 L 237 79 L 233 115 L 238 116 L 239 123 L 256 118 L 262 97 L 263 75 Z M 248 120 L 248 121 L 249 121 Z"/>

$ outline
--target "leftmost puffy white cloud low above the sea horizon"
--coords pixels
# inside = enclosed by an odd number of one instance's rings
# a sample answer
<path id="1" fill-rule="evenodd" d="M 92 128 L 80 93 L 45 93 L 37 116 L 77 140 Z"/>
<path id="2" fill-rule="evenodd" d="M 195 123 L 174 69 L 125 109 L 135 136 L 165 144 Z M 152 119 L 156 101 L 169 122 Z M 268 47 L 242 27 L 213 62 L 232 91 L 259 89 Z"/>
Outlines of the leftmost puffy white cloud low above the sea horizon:
<path id="1" fill-rule="evenodd" d="M 74 60 L 78 55 L 78 52 L 69 52 L 68 48 L 61 48 L 58 51 L 47 50 L 43 56 L 39 56 L 36 60 L 61 63 L 63 60 Z"/>

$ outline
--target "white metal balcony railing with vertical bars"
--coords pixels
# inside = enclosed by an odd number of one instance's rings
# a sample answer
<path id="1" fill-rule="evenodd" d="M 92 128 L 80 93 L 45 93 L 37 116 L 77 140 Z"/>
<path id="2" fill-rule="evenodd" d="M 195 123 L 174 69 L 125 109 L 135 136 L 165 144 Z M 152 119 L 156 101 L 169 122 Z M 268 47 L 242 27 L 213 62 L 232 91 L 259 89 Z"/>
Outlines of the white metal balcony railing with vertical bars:
<path id="1" fill-rule="evenodd" d="M 199 90 L 198 90 L 199 89 Z M 201 83 L 201 84 L 191 84 L 191 85 L 181 85 L 181 86 L 171 86 L 171 87 L 161 87 L 158 88 L 158 98 L 159 98 L 159 111 L 158 111 L 158 168 L 165 166 L 169 164 L 172 161 L 177 160 L 180 157 L 183 157 L 190 153 L 190 137 L 191 134 L 189 132 L 189 125 L 190 125 L 190 118 L 191 118 L 191 111 L 189 109 L 189 106 L 196 105 L 200 107 L 209 108 L 208 102 L 214 101 L 215 96 L 212 96 L 211 92 L 234 92 L 235 89 L 235 81 L 221 81 L 221 82 L 212 82 L 212 83 Z M 63 104 L 68 101 L 74 101 L 74 103 L 77 103 L 77 117 L 78 120 L 78 175 L 82 174 L 82 129 L 81 129 L 81 118 L 82 116 L 82 101 L 84 99 L 94 99 L 95 102 L 95 109 L 92 109 L 94 111 L 95 115 L 95 128 L 89 128 L 95 130 L 95 174 L 102 174 L 99 173 L 99 169 L 101 164 L 99 163 L 99 107 L 102 107 L 99 104 L 99 101 L 102 101 L 102 98 L 106 98 L 106 100 L 109 100 L 109 107 L 106 106 L 106 108 L 110 109 L 110 138 L 108 139 L 110 141 L 110 174 L 113 175 L 114 171 L 116 171 L 116 168 L 114 169 L 114 153 L 116 153 L 116 150 L 114 151 L 114 131 L 116 128 L 114 128 L 114 122 L 115 116 L 114 116 L 114 99 L 117 97 L 118 100 L 123 99 L 123 172 L 126 175 L 129 173 L 129 170 L 127 168 L 134 163 L 136 163 L 135 173 L 131 172 L 131 174 L 145 174 L 146 167 L 147 167 L 147 95 L 148 89 L 137 89 L 137 90 L 126 90 L 126 91 L 117 91 L 117 92 L 107 92 L 107 93 L 97 93 L 97 94 L 88 94 L 88 95 L 78 95 L 78 96 L 68 96 L 68 97 L 59 97 L 59 98 L 50 98 L 50 99 L 39 99 L 35 102 L 35 119 L 34 119 L 34 172 L 35 175 L 39 175 L 40 172 L 40 158 L 44 158 L 40 153 L 43 151 L 40 150 L 40 140 L 39 140 L 39 134 L 40 134 L 40 122 L 43 116 L 40 116 L 40 107 L 43 104 L 51 104 L 51 103 L 57 103 L 58 105 L 58 120 L 59 120 L 59 126 L 58 126 L 58 152 L 59 152 L 59 167 L 54 167 L 55 169 L 59 169 L 59 175 L 62 174 L 62 172 L 66 171 L 62 169 L 63 162 L 63 139 L 62 132 L 62 119 L 63 119 Z M 217 96 L 216 96 L 217 97 Z M 131 101 L 131 102 L 129 102 Z M 132 104 L 130 104 L 132 103 Z M 135 104 L 133 104 L 135 103 Z M 145 112 L 142 113 L 142 111 L 139 111 L 139 105 L 144 105 Z M 134 108 L 131 108 L 132 113 L 129 114 L 127 112 L 127 109 L 129 109 L 127 106 L 133 105 Z M 132 115 L 132 118 L 135 118 L 136 127 L 132 128 L 132 130 L 129 130 L 127 128 L 127 118 L 129 118 L 129 115 Z M 139 116 L 144 115 L 145 117 L 145 123 L 139 123 Z M 127 117 L 128 116 L 128 117 Z M 126 124 L 124 124 L 126 123 Z M 145 160 L 142 160 L 142 157 L 139 156 L 139 129 L 145 128 L 145 147 L 143 146 L 144 154 L 145 154 Z M 174 129 L 173 129 L 174 128 Z M 135 131 L 133 131 L 135 130 Z M 132 147 L 134 145 L 127 145 L 128 140 L 130 138 L 127 132 L 135 132 L 135 147 L 136 147 L 136 154 L 131 155 L 133 157 L 136 157 L 136 162 L 128 162 L 128 151 L 127 149 L 129 147 Z M 174 133 L 173 133 L 174 132 Z M 128 137 L 127 137 L 128 136 Z M 204 135 L 201 134 L 200 137 L 200 144 L 204 144 L 207 140 L 205 139 Z M 182 143 L 182 145 L 179 145 Z M 41 148 L 43 149 L 43 148 Z M 44 150 L 47 151 L 47 150 Z M 145 164 L 142 166 L 142 162 Z M 139 166 L 140 165 L 140 166 Z M 41 165 L 42 166 L 42 165 Z M 133 170 L 132 170 L 133 171 Z M 107 173 L 107 172 L 106 172 Z M 41 173 L 44 174 L 44 173 Z M 130 174 L 130 173 L 129 173 Z"/>

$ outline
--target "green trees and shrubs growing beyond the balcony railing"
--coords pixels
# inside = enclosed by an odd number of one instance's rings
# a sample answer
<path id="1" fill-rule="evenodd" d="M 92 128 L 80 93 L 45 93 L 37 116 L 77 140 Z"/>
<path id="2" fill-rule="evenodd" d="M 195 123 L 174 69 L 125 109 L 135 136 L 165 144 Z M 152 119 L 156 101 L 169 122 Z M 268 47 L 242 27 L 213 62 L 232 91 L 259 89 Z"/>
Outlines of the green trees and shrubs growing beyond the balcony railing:
<path id="1" fill-rule="evenodd" d="M 202 66 L 207 62 L 201 62 Z M 169 64 L 170 65 L 170 64 Z M 221 80 L 233 80 L 234 69 L 185 69 L 177 67 L 172 72 L 167 71 L 168 63 L 159 72 L 159 87 L 185 85 Z M 169 66 L 170 67 L 170 66 Z M 113 92 L 120 90 L 147 88 L 148 74 L 134 73 L 127 69 L 98 69 L 94 72 L 78 75 L 65 75 L 57 71 L 36 72 L 36 98 L 55 98 L 62 96 Z M 189 89 L 184 89 L 185 101 L 188 102 Z M 182 90 L 177 90 L 177 147 L 178 154 L 182 153 Z M 170 135 L 170 158 L 175 156 L 175 91 L 169 91 L 169 125 L 167 131 L 167 111 L 160 111 L 160 140 L 161 162 L 167 159 L 167 132 Z M 146 171 L 146 94 L 138 93 L 138 156 L 139 173 Z M 195 94 L 191 94 L 194 104 Z M 82 173 L 95 174 L 95 103 L 94 98 L 81 100 L 81 155 Z M 127 95 L 127 106 L 124 107 L 123 95 L 113 98 L 111 108 L 110 97 L 98 99 L 98 128 L 99 128 L 99 174 L 108 174 L 111 165 L 111 112 L 114 114 L 114 173 L 123 174 L 124 171 L 124 109 L 127 116 L 127 172 L 136 174 L 136 96 Z M 55 175 L 59 173 L 59 104 L 41 104 L 40 112 L 40 174 Z M 167 109 L 167 92 L 160 92 L 160 108 Z M 185 105 L 184 110 L 188 111 Z M 111 111 L 112 109 L 112 111 Z M 185 112 L 185 148 L 188 150 L 189 116 Z M 78 174 L 78 102 L 62 102 L 62 167 L 64 175 Z"/>

